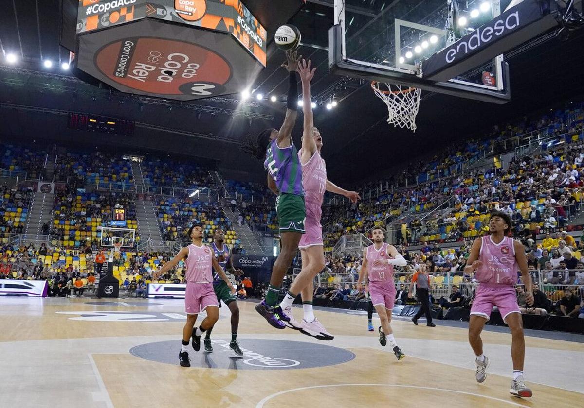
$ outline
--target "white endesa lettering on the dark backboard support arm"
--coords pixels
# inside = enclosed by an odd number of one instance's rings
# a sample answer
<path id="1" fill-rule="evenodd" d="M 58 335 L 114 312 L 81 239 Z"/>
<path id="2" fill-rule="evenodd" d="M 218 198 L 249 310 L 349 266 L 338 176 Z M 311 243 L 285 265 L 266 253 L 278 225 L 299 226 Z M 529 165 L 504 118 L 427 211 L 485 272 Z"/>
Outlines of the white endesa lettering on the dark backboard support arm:
<path id="1" fill-rule="evenodd" d="M 491 41 L 497 40 L 497 37 L 506 36 L 509 31 L 519 26 L 519 11 L 511 13 L 505 19 L 492 20 L 488 25 L 479 27 L 468 38 L 463 37 L 463 39 L 453 44 L 444 58 L 450 64 L 457 58 L 464 58 L 465 55 L 478 47 L 486 47 Z"/>

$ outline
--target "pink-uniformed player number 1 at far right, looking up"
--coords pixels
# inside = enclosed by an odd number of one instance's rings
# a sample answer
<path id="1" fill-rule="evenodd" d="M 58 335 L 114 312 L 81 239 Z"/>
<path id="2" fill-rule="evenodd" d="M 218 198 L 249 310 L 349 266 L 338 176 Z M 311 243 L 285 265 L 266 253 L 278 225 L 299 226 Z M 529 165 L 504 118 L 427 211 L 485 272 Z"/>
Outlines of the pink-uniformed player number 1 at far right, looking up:
<path id="1" fill-rule="evenodd" d="M 527 304 L 533 304 L 533 285 L 529 269 L 527 269 L 525 248 L 519 241 L 506 236 L 511 227 L 511 219 L 507 214 L 493 212 L 489 220 L 491 234 L 478 238 L 472 243 L 471 254 L 464 272 L 475 273 L 480 284 L 471 307 L 468 341 L 477 356 L 475 360 L 477 381 L 483 382 L 486 378 L 489 359 L 483 354 L 481 331 L 491 316 L 493 306 L 498 307 L 512 336 L 513 381 L 510 393 L 520 397 L 530 397 L 532 392 L 526 387 L 523 379 L 525 340 L 522 316 L 514 289 L 517 270 L 521 271 L 525 284 Z"/>

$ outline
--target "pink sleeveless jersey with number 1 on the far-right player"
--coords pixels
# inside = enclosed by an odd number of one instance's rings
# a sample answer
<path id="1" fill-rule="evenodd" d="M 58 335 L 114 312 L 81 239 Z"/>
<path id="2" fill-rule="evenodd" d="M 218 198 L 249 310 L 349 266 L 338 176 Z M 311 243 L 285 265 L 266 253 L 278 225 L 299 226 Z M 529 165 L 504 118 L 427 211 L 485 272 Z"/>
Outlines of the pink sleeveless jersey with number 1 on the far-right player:
<path id="1" fill-rule="evenodd" d="M 482 262 L 476 274 L 478 282 L 504 285 L 513 285 L 517 282 L 519 265 L 515 259 L 512 238 L 503 237 L 503 241 L 495 244 L 491 235 L 485 235 L 482 237 L 478 259 Z"/>

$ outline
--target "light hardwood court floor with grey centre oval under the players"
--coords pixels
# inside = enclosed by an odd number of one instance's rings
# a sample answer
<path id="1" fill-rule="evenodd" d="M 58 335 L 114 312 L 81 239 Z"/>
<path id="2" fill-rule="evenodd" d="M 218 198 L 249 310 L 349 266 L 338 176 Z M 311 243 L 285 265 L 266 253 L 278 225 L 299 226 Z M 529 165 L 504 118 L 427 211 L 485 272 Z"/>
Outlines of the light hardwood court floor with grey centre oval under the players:
<path id="1" fill-rule="evenodd" d="M 192 367 L 183 368 L 182 300 L 0 297 L 0 406 L 584 406 L 578 336 L 526 338 L 526 379 L 534 396 L 519 399 L 509 394 L 509 333 L 484 332 L 491 366 L 477 384 L 464 327 L 394 319 L 406 353 L 397 361 L 367 332 L 359 312 L 317 311 L 336 336 L 321 342 L 272 329 L 254 305 L 239 302 L 244 358 L 228 349 L 230 315 L 223 307 L 214 352 L 191 349 Z M 300 309 L 294 312 L 301 318 Z"/>

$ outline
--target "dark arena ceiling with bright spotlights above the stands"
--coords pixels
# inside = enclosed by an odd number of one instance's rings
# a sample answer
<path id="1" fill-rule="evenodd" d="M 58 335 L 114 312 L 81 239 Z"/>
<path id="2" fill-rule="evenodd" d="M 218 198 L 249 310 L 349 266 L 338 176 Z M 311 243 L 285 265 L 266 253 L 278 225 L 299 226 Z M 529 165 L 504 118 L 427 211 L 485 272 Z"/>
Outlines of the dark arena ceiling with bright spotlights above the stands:
<path id="1" fill-rule="evenodd" d="M 241 103 L 238 94 L 212 100 L 178 103 L 134 97 L 84 82 L 60 63 L 69 53 L 60 45 L 61 6 L 75 8 L 77 0 L 6 0 L 0 13 L 0 52 L 14 52 L 19 62 L 10 65 L 0 55 L 0 135 L 9 138 L 60 140 L 88 146 L 109 146 L 121 152 L 163 150 L 218 161 L 232 168 L 262 175 L 259 164 L 247 159 L 237 145 L 247 133 L 283 119 L 287 92 L 286 72 L 280 68 L 284 53 L 268 47 L 267 68 L 251 89 L 266 97 Z M 295 0 L 279 0 L 294 6 Z M 446 0 L 425 0 L 430 10 Z M 272 0 L 244 0 L 261 14 Z M 423 95 L 415 133 L 385 123 L 387 108 L 371 92 L 369 83 L 328 72 L 328 29 L 333 21 L 333 0 L 308 0 L 291 23 L 303 34 L 300 52 L 317 65 L 313 95 L 318 107 L 315 123 L 324 136 L 324 157 L 334 180 L 356 182 L 405 164 L 416 156 L 454 139 L 480 135 L 508 119 L 551 107 L 583 93 L 584 48 L 582 30 L 568 41 L 550 38 L 507 58 L 511 68 L 512 101 L 492 105 L 439 94 Z M 405 0 L 347 0 L 355 27 L 384 24 L 383 9 L 405 6 Z M 503 1 L 505 5 L 505 1 Z M 258 16 L 262 18 L 262 16 Z M 353 18 L 354 17 L 354 18 Z M 418 16 L 422 18 L 423 15 Z M 415 18 L 415 17 L 413 17 Z M 348 19 L 348 17 L 347 17 Z M 273 33 L 272 33 L 273 36 Z M 51 59 L 54 66 L 41 65 Z M 86 79 L 83 78 L 82 79 Z M 272 103 L 267 96 L 276 96 Z M 326 110 L 332 99 L 338 106 Z M 134 136 L 100 135 L 67 129 L 67 112 L 89 112 L 137 122 Z M 300 142 L 301 120 L 294 135 Z M 263 176 L 262 176 L 263 177 Z"/>

